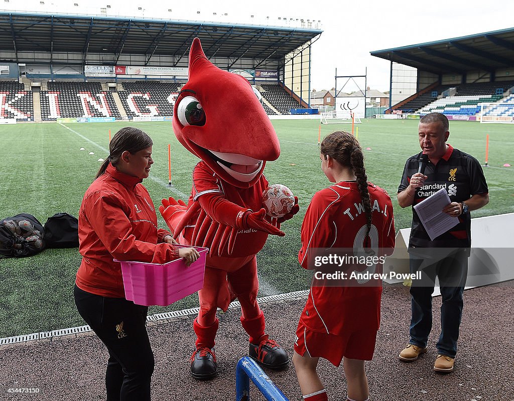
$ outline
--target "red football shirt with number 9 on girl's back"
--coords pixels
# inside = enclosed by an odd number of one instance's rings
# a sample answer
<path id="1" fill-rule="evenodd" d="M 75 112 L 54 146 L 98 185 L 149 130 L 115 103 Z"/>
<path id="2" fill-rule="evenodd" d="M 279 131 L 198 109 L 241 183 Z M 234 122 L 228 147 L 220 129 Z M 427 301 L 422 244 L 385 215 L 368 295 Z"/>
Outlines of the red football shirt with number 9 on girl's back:
<path id="1" fill-rule="evenodd" d="M 391 198 L 372 183 L 368 184 L 368 190 L 372 230 L 368 237 L 371 242 L 368 240 L 365 246 L 375 250 L 376 256 L 391 255 L 395 244 Z M 356 182 L 343 181 L 320 190 L 311 200 L 303 220 L 300 264 L 313 269 L 314 253 L 319 249 L 328 249 L 325 254 L 331 253 L 330 249 L 334 249 L 334 254 L 355 250 L 357 255 L 362 250 L 366 228 L 366 215 Z M 381 265 L 373 267 L 372 272 L 381 273 Z M 380 283 L 370 286 L 350 282 L 340 280 L 338 287 L 319 284 L 311 287 L 300 318 L 307 328 L 335 335 L 348 330 L 378 330 Z"/>

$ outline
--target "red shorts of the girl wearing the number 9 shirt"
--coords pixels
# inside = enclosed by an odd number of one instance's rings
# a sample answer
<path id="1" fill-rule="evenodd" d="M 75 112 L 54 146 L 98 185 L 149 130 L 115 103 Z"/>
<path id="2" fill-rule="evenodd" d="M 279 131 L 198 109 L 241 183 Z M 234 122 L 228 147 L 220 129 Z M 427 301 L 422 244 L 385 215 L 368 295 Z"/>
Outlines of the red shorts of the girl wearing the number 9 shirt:
<path id="1" fill-rule="evenodd" d="M 371 360 L 376 340 L 376 330 L 354 331 L 338 336 L 311 331 L 300 320 L 296 331 L 295 351 L 301 356 L 307 352 L 313 358 L 321 357 L 332 365 L 339 366 L 343 356 Z"/>

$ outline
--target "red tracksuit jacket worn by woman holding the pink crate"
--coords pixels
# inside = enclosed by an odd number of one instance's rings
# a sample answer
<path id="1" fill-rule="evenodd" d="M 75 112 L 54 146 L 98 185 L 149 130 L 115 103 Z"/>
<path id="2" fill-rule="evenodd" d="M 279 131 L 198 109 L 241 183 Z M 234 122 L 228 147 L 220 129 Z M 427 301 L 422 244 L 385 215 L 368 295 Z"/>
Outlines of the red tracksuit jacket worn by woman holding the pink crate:
<path id="1" fill-rule="evenodd" d="M 77 287 L 92 294 L 124 298 L 118 260 L 164 263 L 178 258 L 175 246 L 162 242 L 170 233 L 157 228 L 155 207 L 141 179 L 109 164 L 87 188 L 79 212 L 82 263 Z"/>

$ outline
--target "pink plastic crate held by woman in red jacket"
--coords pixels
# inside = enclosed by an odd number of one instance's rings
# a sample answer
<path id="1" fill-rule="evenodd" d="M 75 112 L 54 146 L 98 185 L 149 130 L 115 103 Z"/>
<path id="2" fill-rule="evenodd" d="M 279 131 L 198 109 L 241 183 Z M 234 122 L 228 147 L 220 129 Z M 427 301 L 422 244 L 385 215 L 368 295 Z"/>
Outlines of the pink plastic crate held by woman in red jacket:
<path id="1" fill-rule="evenodd" d="M 200 257 L 189 267 L 186 267 L 182 258 L 164 264 L 115 259 L 121 263 L 125 298 L 138 305 L 165 307 L 201 290 L 204 287 L 205 258 L 209 249 L 198 246 L 194 248 Z"/>

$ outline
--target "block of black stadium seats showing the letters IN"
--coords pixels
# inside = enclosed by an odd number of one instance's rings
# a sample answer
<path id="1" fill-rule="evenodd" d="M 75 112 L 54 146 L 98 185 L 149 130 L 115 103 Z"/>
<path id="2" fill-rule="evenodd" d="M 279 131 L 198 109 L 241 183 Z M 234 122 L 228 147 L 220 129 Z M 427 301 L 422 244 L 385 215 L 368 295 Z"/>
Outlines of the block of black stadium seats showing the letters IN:
<path id="1" fill-rule="evenodd" d="M 102 90 L 98 82 L 48 82 L 41 91 L 41 118 L 115 117 L 121 114 L 111 92 Z"/>

